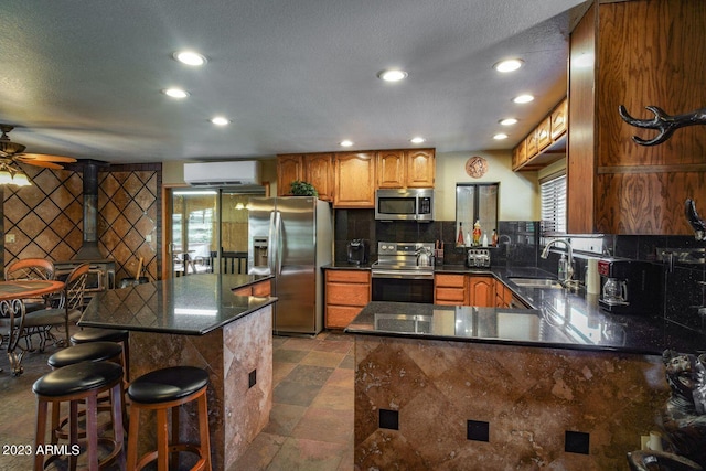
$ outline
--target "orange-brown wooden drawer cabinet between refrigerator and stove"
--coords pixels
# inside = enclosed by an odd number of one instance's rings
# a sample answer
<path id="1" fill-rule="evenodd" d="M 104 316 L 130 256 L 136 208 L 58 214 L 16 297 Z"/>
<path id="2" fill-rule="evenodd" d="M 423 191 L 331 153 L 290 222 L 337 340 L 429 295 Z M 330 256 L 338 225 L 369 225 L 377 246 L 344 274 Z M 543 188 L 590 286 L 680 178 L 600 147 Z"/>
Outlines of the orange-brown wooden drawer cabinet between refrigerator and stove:
<path id="1" fill-rule="evenodd" d="M 327 329 L 344 329 L 371 301 L 371 272 L 325 270 Z"/>

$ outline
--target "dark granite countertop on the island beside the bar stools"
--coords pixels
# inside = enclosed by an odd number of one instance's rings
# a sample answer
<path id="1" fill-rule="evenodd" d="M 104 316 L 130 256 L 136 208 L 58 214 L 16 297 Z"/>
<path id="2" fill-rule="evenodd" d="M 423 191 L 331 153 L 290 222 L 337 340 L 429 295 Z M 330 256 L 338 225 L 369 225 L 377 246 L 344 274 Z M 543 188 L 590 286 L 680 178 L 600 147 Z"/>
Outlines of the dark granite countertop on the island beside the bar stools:
<path id="1" fill-rule="evenodd" d="M 235 296 L 269 275 L 191 275 L 97 293 L 81 327 L 203 335 L 277 301 Z"/>

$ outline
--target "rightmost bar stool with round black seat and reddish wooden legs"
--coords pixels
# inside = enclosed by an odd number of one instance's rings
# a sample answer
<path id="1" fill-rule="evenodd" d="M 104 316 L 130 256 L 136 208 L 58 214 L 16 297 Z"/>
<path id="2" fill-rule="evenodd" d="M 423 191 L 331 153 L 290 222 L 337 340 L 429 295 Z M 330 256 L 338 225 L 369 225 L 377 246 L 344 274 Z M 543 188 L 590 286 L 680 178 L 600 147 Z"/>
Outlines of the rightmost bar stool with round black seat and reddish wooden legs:
<path id="1" fill-rule="evenodd" d="M 130 430 L 128 432 L 128 470 L 141 470 L 146 464 L 157 460 L 158 471 L 179 468 L 176 462 L 169 464 L 172 453 L 188 451 L 195 453 L 199 461 L 191 471 L 211 471 L 211 443 L 208 438 L 208 406 L 206 389 L 208 373 L 194 366 L 173 366 L 147 373 L 128 388 L 130 404 Z M 179 406 L 196 400 L 199 408 L 199 445 L 179 442 Z M 138 427 L 140 410 L 157 413 L 157 450 L 149 451 L 139 458 Z M 172 411 L 172 440 L 169 443 L 167 411 Z"/>

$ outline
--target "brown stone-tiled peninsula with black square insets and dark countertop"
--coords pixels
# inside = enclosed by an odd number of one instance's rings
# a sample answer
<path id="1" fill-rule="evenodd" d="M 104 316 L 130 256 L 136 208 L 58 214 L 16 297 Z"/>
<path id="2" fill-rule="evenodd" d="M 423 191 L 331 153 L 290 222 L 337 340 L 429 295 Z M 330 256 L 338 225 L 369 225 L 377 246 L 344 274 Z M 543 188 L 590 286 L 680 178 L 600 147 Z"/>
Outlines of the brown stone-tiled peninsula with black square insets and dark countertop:
<path id="1" fill-rule="evenodd" d="M 345 329 L 356 468 L 627 469 L 668 396 L 665 336 L 563 312 L 367 304 Z"/>

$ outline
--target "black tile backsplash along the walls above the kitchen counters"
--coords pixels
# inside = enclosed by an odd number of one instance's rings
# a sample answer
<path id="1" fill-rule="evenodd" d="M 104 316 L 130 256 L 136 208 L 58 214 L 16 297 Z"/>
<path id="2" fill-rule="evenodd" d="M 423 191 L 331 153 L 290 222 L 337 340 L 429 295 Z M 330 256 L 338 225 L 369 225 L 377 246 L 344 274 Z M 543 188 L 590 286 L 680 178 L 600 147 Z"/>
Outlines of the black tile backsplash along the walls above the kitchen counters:
<path id="1" fill-rule="evenodd" d="M 370 243 L 371 263 L 377 259 L 377 242 L 427 242 L 445 244 L 445 264 L 462 265 L 466 248 L 456 247 L 456 221 L 384 223 L 375 221 L 373 210 L 335 211 L 334 260 L 346 263 L 346 244 L 353 238 Z M 538 221 L 501 221 L 498 225 L 499 246 L 491 248 L 493 266 L 539 267 L 556 274 L 558 255 L 546 260 L 539 257 L 543 248 Z M 706 333 L 706 265 L 703 263 L 706 243 L 689 236 L 625 236 L 625 235 L 568 235 L 577 247 L 575 278 L 584 280 L 588 258 L 614 256 L 646 260 L 661 268 L 662 301 L 655 314 L 665 320 Z M 560 247 L 560 246 L 559 246 Z M 694 256 L 674 257 L 665 261 L 670 251 Z M 700 251 L 697 251 L 700 250 Z M 664 254 L 666 253 L 666 254 Z M 700 257 L 700 259 L 699 259 Z"/>

